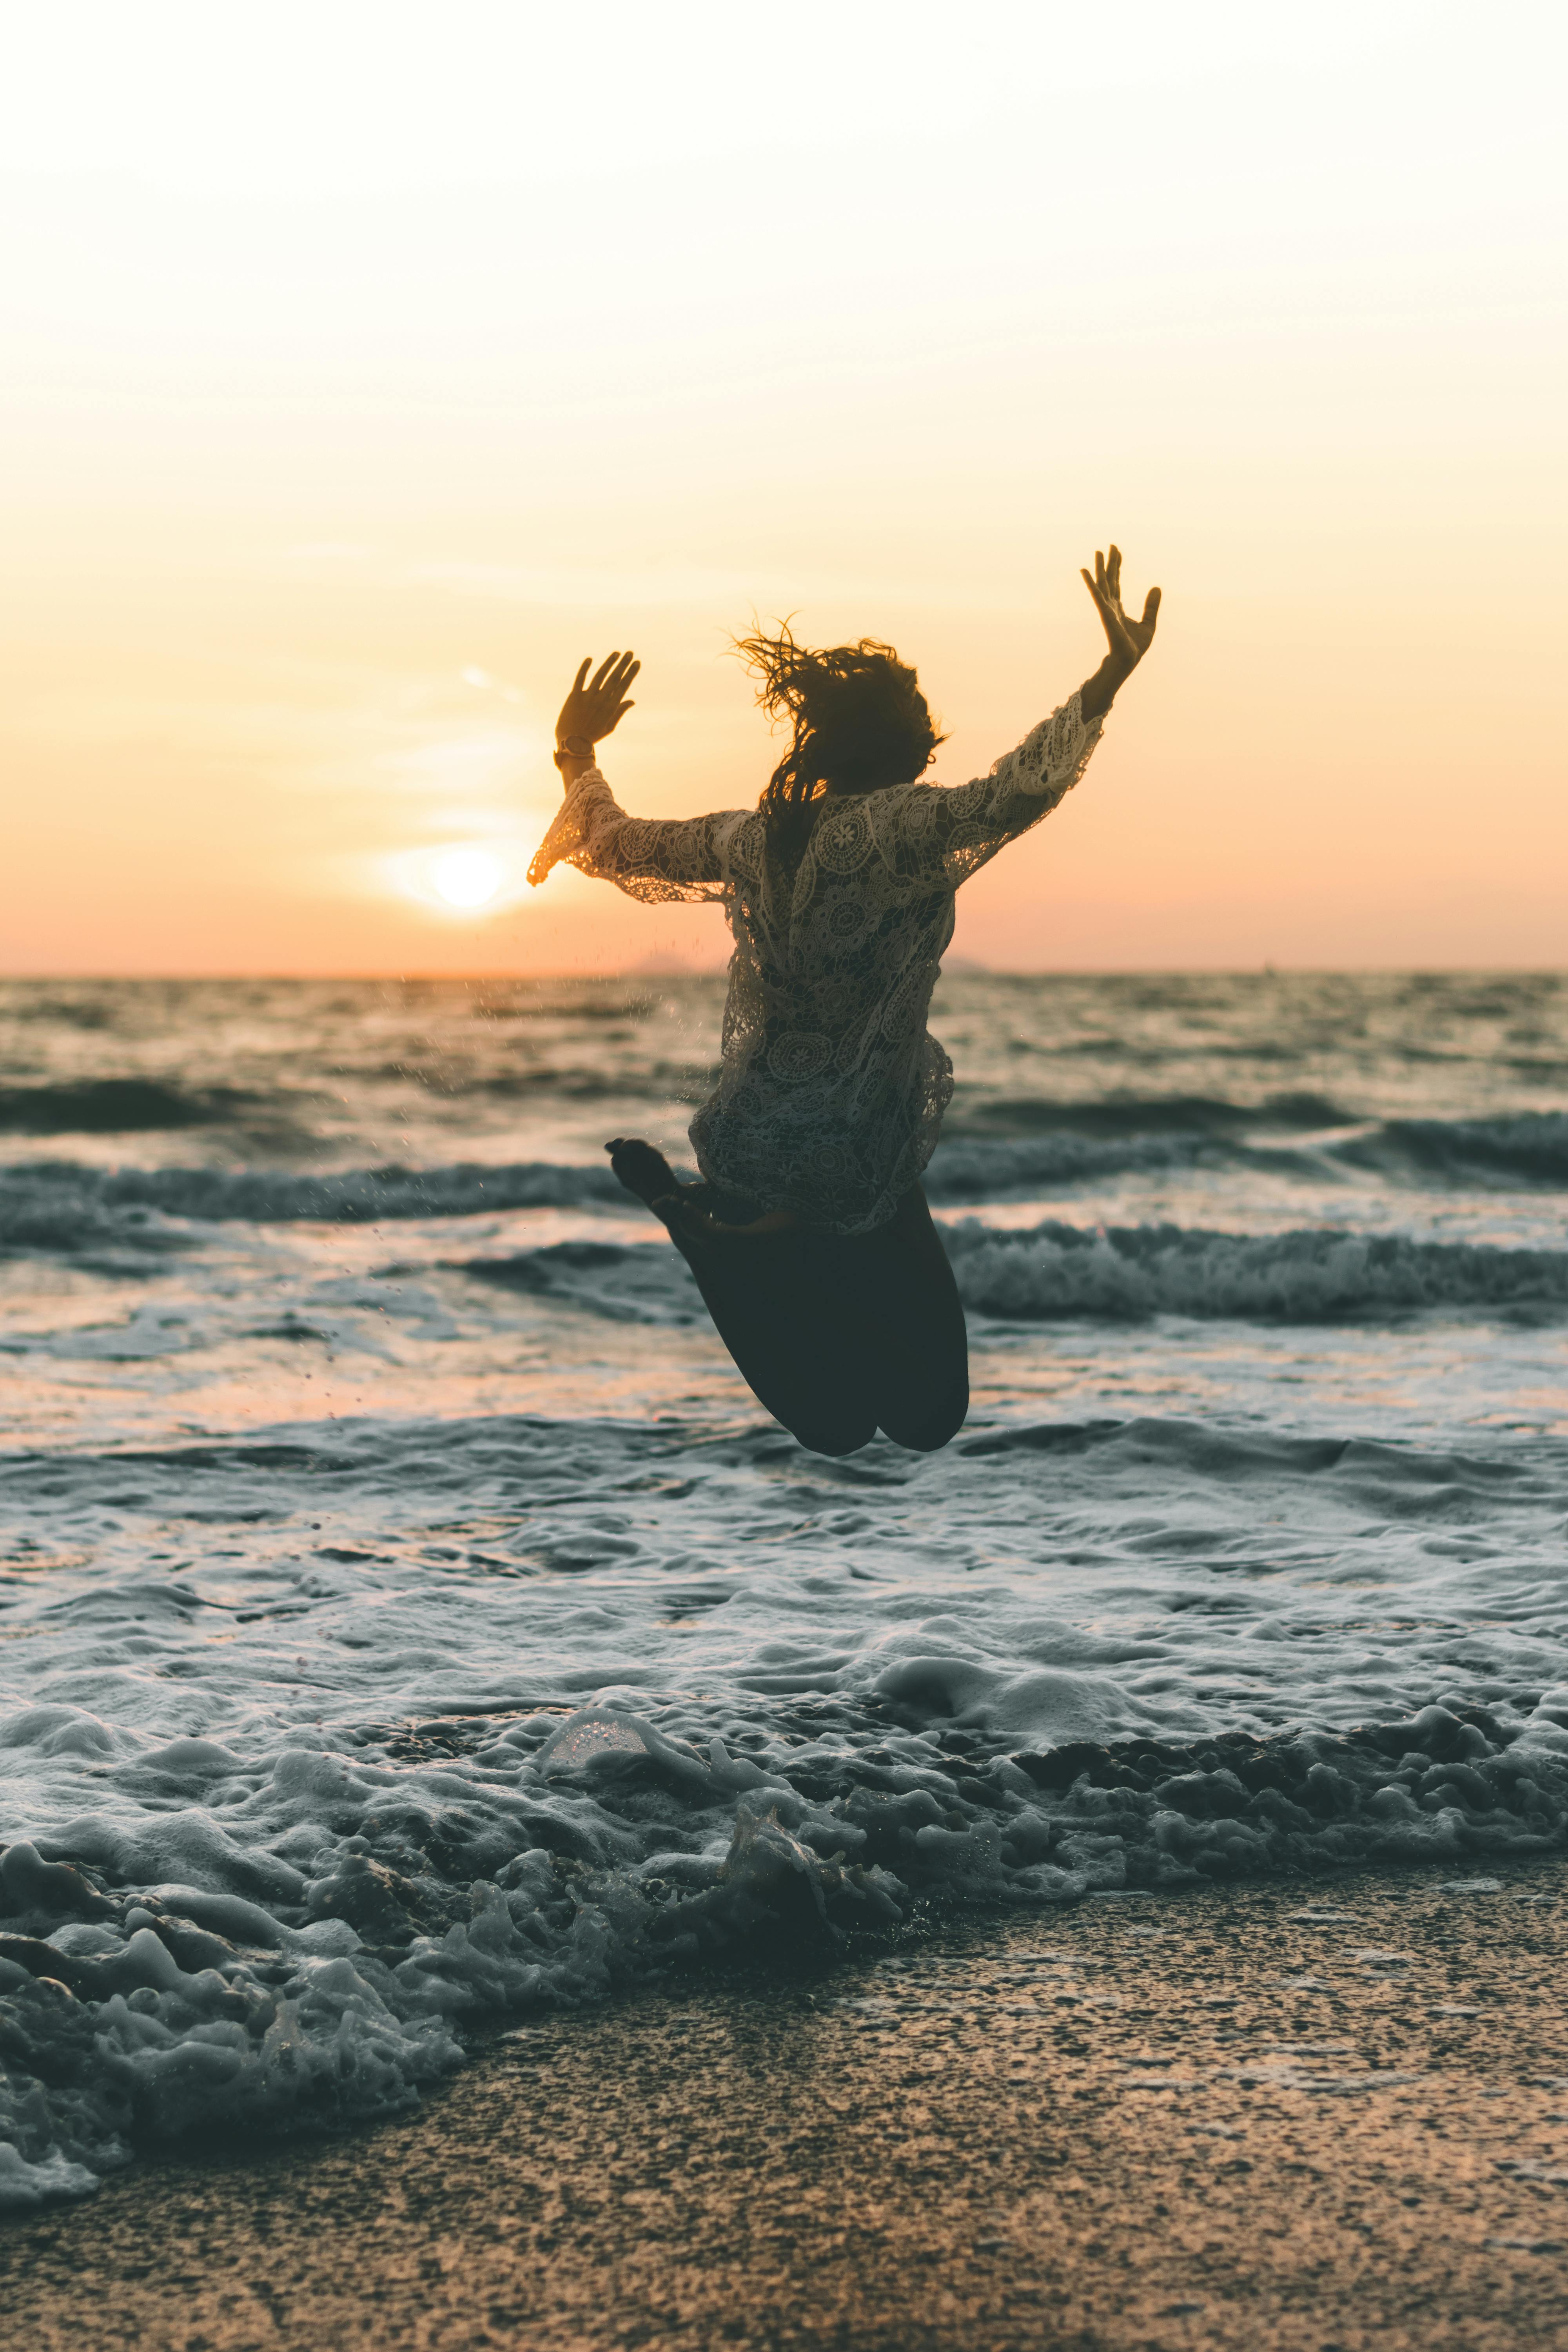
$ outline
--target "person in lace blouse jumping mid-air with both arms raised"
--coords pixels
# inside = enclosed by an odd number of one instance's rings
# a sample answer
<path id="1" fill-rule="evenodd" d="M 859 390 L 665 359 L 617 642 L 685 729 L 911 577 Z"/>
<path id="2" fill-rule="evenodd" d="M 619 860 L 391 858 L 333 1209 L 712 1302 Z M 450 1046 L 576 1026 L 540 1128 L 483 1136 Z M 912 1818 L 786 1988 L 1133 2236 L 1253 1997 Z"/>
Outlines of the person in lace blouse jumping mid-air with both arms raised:
<path id="1" fill-rule="evenodd" d="M 625 816 L 595 743 L 642 663 L 585 661 L 555 722 L 567 800 L 529 866 L 567 861 L 632 898 L 712 898 L 736 938 L 719 1084 L 691 1122 L 703 1183 L 651 1143 L 607 1143 L 696 1275 L 766 1409 L 816 1454 L 877 1430 L 919 1454 L 969 1411 L 964 1308 L 919 1176 L 952 1098 L 926 1009 L 954 891 L 1072 790 L 1154 637 L 1121 609 L 1121 555 L 1084 572 L 1110 652 L 990 776 L 922 783 L 943 736 L 912 668 L 863 637 L 811 652 L 788 628 L 741 652 L 792 722 L 757 809 Z"/>

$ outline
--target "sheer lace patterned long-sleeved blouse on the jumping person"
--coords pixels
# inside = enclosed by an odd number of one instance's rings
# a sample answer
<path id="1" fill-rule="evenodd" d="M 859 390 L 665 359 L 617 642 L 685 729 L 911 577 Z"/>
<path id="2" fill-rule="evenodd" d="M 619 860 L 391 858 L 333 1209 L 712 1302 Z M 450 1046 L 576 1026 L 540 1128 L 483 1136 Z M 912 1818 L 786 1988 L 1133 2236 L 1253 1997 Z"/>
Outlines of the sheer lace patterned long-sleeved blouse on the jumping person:
<path id="1" fill-rule="evenodd" d="M 724 1063 L 691 1122 L 710 1183 L 823 1232 L 891 1218 L 952 1101 L 926 1009 L 954 891 L 1072 790 L 1098 741 L 1074 694 L 976 783 L 827 795 L 792 875 L 764 856 L 757 809 L 656 821 L 625 816 L 597 767 L 574 781 L 529 882 L 567 861 L 729 917 Z"/>

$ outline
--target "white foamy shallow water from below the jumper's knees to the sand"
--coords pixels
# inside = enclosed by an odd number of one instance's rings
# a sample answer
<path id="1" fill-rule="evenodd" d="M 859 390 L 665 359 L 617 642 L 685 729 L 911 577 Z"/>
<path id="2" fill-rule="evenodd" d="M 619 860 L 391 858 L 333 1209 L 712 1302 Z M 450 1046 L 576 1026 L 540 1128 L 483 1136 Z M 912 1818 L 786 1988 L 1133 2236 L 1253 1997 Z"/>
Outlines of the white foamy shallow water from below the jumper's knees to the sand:
<path id="1" fill-rule="evenodd" d="M 78 1456 L 99 1562 L 9 1571 L 0 2197 L 219 2107 L 386 2114 L 487 2020 L 917 1900 L 1552 1849 L 1561 1489 L 1159 1421 L 858 1477 L 503 1421 Z M 19 1524 L 56 1496 L 16 1465 Z"/>

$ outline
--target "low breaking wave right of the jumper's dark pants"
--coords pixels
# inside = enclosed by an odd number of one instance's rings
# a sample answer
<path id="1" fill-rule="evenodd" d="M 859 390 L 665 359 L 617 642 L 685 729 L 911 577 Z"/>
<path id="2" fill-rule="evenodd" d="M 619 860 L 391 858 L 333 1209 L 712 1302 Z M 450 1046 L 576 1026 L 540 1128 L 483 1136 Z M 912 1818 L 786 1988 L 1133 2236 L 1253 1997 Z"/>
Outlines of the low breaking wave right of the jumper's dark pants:
<path id="1" fill-rule="evenodd" d="M 999 1232 L 973 1218 L 950 1225 L 945 1240 L 964 1305 L 1018 1322 L 1058 1315 L 1345 1322 L 1427 1308 L 1556 1317 L 1568 1308 L 1568 1251 L 1556 1249 L 1321 1228 L 1244 1235 L 1044 1223 Z"/>

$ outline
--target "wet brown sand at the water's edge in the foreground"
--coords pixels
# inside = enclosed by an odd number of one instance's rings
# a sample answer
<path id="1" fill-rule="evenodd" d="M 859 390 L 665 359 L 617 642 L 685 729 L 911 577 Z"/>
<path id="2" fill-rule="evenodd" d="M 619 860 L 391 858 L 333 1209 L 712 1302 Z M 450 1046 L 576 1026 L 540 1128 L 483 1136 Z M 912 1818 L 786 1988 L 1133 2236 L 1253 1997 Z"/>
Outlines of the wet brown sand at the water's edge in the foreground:
<path id="1" fill-rule="evenodd" d="M 684 1980 L 14 2220 L 0 2310 L 28 2352 L 1519 2352 L 1568 2340 L 1566 1962 L 1554 1863 Z"/>

